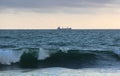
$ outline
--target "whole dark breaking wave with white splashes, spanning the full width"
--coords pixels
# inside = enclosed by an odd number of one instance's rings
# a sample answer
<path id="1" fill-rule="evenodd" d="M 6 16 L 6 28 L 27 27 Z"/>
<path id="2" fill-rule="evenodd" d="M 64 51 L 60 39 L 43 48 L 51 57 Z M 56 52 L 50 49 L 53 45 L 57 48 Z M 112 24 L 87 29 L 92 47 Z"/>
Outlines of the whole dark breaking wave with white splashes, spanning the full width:
<path id="1" fill-rule="evenodd" d="M 119 62 L 120 53 L 107 50 L 75 50 L 43 48 L 0 49 L 1 65 L 17 63 L 20 67 L 83 68 Z M 101 63 L 102 62 L 102 63 Z"/>

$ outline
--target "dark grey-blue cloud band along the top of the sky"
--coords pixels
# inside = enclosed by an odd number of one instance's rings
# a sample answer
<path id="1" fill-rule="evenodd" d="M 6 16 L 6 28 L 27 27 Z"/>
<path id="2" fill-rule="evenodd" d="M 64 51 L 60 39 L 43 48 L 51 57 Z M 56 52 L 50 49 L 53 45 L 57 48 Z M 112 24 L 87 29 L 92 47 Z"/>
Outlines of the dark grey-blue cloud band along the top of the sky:
<path id="1" fill-rule="evenodd" d="M 110 0 L 0 0 L 0 6 L 12 8 L 99 7 L 109 1 Z"/>

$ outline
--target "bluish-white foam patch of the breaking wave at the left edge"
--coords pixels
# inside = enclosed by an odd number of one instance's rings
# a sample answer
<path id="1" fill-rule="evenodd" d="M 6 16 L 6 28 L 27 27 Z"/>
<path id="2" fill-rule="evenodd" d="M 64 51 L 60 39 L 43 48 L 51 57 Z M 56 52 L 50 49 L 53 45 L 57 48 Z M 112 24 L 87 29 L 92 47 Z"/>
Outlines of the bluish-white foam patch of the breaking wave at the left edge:
<path id="1" fill-rule="evenodd" d="M 0 63 L 10 65 L 19 62 L 21 55 L 22 51 L 0 49 Z"/>

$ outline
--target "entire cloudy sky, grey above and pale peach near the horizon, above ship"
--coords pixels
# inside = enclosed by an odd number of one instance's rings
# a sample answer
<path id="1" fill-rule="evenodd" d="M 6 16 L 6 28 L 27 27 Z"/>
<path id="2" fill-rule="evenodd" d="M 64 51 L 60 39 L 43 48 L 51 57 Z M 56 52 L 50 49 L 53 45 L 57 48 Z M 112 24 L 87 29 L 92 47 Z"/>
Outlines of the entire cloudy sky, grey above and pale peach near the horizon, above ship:
<path id="1" fill-rule="evenodd" d="M 120 0 L 0 0 L 0 29 L 120 29 Z"/>

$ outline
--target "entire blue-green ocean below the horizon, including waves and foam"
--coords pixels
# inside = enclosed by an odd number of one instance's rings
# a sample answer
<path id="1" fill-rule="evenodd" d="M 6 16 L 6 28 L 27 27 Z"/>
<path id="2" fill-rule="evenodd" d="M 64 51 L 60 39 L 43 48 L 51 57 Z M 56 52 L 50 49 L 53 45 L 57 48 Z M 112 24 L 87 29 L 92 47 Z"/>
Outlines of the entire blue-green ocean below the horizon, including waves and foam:
<path id="1" fill-rule="evenodd" d="M 119 76 L 120 30 L 0 30 L 0 76 Z"/>

